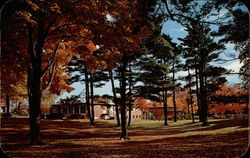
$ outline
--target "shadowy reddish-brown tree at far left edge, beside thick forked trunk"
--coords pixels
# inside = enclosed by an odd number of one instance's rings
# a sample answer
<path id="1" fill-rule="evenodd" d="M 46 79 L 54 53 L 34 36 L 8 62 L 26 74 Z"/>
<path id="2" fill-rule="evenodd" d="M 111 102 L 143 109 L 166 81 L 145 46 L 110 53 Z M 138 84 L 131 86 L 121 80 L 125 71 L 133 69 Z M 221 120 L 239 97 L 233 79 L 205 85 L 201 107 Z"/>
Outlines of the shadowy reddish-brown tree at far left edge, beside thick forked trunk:
<path id="1" fill-rule="evenodd" d="M 8 8 L 10 8 L 8 10 Z M 1 13 L 2 17 L 7 17 L 13 14 L 13 6 L 6 5 Z M 17 39 L 10 39 L 15 31 L 8 29 L 9 25 L 15 25 L 13 19 L 1 20 L 1 30 L 6 30 L 1 33 L 1 56 L 0 56 L 0 69 L 1 69 L 1 98 L 5 98 L 7 106 L 7 115 L 10 115 L 10 101 L 13 97 L 23 96 L 27 93 L 25 84 L 27 72 L 25 69 L 25 61 L 27 56 L 22 56 L 23 49 L 26 48 L 24 43 L 18 43 Z"/>

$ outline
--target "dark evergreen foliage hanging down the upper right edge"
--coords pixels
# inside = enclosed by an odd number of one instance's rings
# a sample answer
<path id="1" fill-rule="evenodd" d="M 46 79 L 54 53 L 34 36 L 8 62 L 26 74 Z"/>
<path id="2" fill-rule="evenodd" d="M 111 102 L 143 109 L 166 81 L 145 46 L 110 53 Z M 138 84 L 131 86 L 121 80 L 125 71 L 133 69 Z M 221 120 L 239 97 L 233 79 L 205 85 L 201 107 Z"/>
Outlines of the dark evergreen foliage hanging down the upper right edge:
<path id="1" fill-rule="evenodd" d="M 232 6 L 233 7 L 233 6 Z M 249 12 L 244 11 L 241 8 L 233 9 L 231 11 L 232 20 L 227 24 L 221 25 L 218 31 L 215 31 L 214 35 L 224 36 L 220 42 L 227 43 L 231 42 L 235 44 L 234 49 L 239 52 L 239 60 L 243 63 L 240 69 L 240 76 L 242 79 L 242 87 L 248 89 L 248 63 L 249 63 Z"/>

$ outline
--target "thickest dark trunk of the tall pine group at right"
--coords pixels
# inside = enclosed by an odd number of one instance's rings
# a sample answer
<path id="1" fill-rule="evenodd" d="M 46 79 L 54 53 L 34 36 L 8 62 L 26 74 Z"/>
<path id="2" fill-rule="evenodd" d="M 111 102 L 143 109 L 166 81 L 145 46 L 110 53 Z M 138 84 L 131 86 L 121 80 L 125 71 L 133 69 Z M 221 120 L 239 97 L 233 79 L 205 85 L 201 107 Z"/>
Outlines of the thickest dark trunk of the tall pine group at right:
<path id="1" fill-rule="evenodd" d="M 200 80 L 200 99 L 201 99 L 201 114 L 202 114 L 202 126 L 208 126 L 207 122 L 207 99 L 206 99 L 206 87 L 204 83 L 204 72 L 203 68 L 199 69 L 199 80 Z"/>

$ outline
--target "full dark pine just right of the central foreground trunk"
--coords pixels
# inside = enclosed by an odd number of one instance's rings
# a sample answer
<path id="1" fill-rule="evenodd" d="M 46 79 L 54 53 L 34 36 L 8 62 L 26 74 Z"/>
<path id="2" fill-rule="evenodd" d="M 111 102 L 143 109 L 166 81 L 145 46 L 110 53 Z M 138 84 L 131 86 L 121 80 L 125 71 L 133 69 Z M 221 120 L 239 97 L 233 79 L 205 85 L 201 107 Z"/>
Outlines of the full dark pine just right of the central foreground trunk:
<path id="1" fill-rule="evenodd" d="M 157 29 L 147 41 L 146 47 L 148 54 L 140 63 L 142 74 L 139 81 L 144 84 L 140 93 L 146 99 L 163 102 L 164 125 L 168 125 L 167 98 L 168 90 L 172 87 L 167 77 L 169 72 L 168 59 L 173 55 L 173 47 L 164 38 L 164 35 L 159 34 Z"/>

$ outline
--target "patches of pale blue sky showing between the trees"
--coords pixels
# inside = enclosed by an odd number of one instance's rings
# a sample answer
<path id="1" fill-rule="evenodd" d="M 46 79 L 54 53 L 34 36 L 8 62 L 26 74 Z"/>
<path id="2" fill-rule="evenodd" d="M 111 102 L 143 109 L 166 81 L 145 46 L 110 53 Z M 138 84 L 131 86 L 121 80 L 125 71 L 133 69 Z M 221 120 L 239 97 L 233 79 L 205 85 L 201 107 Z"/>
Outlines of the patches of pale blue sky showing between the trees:
<path id="1" fill-rule="evenodd" d="M 173 42 L 177 44 L 180 44 L 180 41 L 178 40 L 178 38 L 183 38 L 187 35 L 185 28 L 182 25 L 173 21 L 167 21 L 163 24 L 162 33 L 169 34 L 173 38 Z M 225 47 L 226 47 L 226 50 L 224 50 L 225 54 L 232 53 L 232 54 L 235 54 L 236 56 L 238 55 L 238 53 L 235 52 L 234 50 L 234 44 L 227 43 L 225 44 Z M 227 69 L 231 69 L 233 70 L 233 72 L 239 72 L 239 69 L 241 67 L 239 60 L 230 61 L 224 64 L 216 63 L 216 65 L 223 66 Z M 179 75 L 186 75 L 186 74 L 187 74 L 186 72 L 179 73 Z M 241 82 L 238 75 L 227 75 L 225 77 L 227 78 L 229 84 L 237 84 Z M 118 82 L 116 81 L 115 84 L 118 85 Z M 60 98 L 66 98 L 67 96 L 71 96 L 71 95 L 78 95 L 85 88 L 84 83 L 75 83 L 72 86 L 75 88 L 75 90 L 73 90 L 70 93 L 65 92 Z M 104 94 L 112 95 L 111 83 L 107 82 L 107 84 L 103 86 L 102 88 L 95 88 L 94 93 L 95 95 L 104 95 Z"/>

